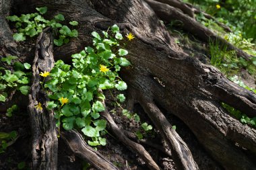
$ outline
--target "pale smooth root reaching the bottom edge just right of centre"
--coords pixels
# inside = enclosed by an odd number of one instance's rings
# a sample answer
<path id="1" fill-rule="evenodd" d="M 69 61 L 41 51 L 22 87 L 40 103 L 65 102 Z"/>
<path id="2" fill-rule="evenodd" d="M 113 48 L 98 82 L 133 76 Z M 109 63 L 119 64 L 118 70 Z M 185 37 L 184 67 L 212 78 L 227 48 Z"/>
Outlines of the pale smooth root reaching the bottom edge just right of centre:
<path id="1" fill-rule="evenodd" d="M 166 140 L 172 151 L 173 159 L 177 167 L 187 170 L 198 169 L 189 147 L 181 139 L 179 134 L 172 129 L 172 126 L 168 120 L 166 120 L 165 116 L 158 109 L 158 107 L 152 101 L 150 101 L 150 99 L 146 99 L 146 97 L 143 97 L 139 101 L 156 128 L 160 130 L 160 133 Z"/>

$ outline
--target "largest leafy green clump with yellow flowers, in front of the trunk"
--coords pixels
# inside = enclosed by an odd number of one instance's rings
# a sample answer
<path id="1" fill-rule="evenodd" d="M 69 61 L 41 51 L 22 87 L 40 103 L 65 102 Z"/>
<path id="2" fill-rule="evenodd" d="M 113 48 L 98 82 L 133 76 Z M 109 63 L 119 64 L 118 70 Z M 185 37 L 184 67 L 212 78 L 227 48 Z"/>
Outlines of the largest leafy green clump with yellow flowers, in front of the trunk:
<path id="1" fill-rule="evenodd" d="M 62 60 L 55 62 L 44 88 L 50 91 L 47 108 L 55 110 L 57 126 L 62 124 L 65 130 L 80 128 L 92 138 L 88 144 L 97 146 L 106 144 L 102 137 L 106 120 L 100 119 L 105 97 L 99 89 L 127 89 L 118 72 L 131 63 L 124 58 L 128 51 L 119 47 L 123 36 L 117 25 L 111 27 L 111 32 L 102 32 L 102 36 L 97 32 L 92 32 L 92 36 L 94 48 L 88 46 L 73 54 L 73 66 Z M 124 101 L 125 97 L 119 94 L 117 99 Z"/>

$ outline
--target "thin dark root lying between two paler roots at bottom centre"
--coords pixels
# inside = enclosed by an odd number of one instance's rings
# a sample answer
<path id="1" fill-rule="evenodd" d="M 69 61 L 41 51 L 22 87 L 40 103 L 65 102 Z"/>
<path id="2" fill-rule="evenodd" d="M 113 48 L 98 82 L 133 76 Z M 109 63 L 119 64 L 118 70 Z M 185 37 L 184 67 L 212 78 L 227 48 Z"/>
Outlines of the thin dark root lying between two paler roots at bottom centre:
<path id="1" fill-rule="evenodd" d="M 127 130 L 123 130 L 124 134 L 128 137 L 131 138 L 132 140 L 139 142 L 141 144 L 146 144 L 148 146 L 151 146 L 152 148 L 156 148 L 159 151 L 161 151 L 162 153 L 164 153 L 165 155 L 172 157 L 172 155 L 166 150 L 166 148 L 164 148 L 163 146 L 159 145 L 159 144 L 155 144 L 154 142 L 151 142 L 150 140 L 146 140 L 146 139 L 137 139 L 136 135 L 133 134 L 132 132 L 129 132 Z"/>

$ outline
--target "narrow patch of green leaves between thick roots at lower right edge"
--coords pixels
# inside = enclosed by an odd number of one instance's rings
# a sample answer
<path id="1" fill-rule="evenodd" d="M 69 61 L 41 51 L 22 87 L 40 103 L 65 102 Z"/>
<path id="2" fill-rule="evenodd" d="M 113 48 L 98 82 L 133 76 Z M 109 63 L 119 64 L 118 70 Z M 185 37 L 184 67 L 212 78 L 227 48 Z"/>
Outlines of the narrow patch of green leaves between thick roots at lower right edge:
<path id="1" fill-rule="evenodd" d="M 232 116 L 234 116 L 236 119 L 240 120 L 243 124 L 248 124 L 249 126 L 252 126 L 253 128 L 256 128 L 256 117 L 249 118 L 246 114 L 243 114 L 241 111 L 236 110 L 232 108 L 232 106 L 221 103 L 222 107 L 229 112 Z"/>

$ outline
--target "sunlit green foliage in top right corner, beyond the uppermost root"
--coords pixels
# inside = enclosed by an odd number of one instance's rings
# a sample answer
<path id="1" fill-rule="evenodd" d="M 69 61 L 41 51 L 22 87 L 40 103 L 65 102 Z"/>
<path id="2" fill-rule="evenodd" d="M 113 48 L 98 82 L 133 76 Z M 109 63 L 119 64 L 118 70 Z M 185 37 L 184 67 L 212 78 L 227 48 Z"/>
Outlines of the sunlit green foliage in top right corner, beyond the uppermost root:
<path id="1" fill-rule="evenodd" d="M 256 40 L 256 1 L 255 0 L 228 0 L 228 1 L 210 1 L 210 0 L 185 0 L 194 5 L 199 5 L 203 11 L 214 15 L 222 22 L 232 28 L 234 32 L 240 30 L 241 36 L 253 38 Z M 216 9 L 220 5 L 220 9 Z"/>

